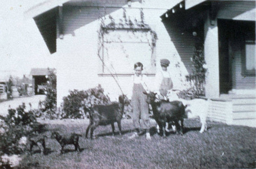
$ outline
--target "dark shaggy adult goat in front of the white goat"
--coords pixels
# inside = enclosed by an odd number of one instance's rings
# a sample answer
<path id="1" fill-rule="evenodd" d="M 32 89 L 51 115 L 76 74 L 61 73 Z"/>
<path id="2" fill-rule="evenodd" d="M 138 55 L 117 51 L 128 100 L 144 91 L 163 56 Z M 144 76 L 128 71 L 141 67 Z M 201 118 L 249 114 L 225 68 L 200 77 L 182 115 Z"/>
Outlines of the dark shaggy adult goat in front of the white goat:
<path id="1" fill-rule="evenodd" d="M 183 134 L 183 121 L 186 118 L 185 106 L 181 101 L 165 101 L 161 100 L 155 102 L 156 93 L 144 93 L 147 95 L 147 103 L 151 104 L 153 110 L 153 118 L 156 120 L 160 129 L 163 131 L 163 136 L 165 134 L 165 124 L 166 122 L 171 124 L 174 122 L 178 133 Z M 179 124 L 180 122 L 180 124 Z"/>

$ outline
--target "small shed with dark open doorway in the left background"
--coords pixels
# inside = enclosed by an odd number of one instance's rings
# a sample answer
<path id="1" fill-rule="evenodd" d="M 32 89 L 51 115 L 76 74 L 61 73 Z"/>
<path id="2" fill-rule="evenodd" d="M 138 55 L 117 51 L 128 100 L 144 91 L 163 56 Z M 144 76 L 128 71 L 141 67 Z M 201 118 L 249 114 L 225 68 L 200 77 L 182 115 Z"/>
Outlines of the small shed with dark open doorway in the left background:
<path id="1" fill-rule="evenodd" d="M 47 83 L 47 76 L 50 74 L 50 68 L 32 68 L 30 75 L 32 76 L 32 89 L 35 95 L 45 94 L 44 87 Z"/>

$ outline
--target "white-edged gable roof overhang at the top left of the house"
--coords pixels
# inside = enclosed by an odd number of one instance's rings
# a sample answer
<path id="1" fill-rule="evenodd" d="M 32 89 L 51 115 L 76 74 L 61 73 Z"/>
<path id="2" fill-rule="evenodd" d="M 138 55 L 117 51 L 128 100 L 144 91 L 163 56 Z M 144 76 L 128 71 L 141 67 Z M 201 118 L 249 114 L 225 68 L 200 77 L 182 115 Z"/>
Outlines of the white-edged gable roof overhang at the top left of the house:
<path id="1" fill-rule="evenodd" d="M 44 41 L 49 49 L 49 52 L 55 53 L 57 51 L 56 39 L 63 37 L 63 21 L 62 21 L 62 6 L 87 6 L 93 4 L 94 7 L 104 5 L 104 3 L 111 4 L 111 8 L 122 8 L 123 2 L 126 0 L 39 0 L 40 3 L 34 5 L 24 12 L 25 18 L 33 18 L 38 30 L 44 38 Z M 161 3 L 154 1 L 148 1 L 149 3 L 143 8 L 162 9 L 167 10 L 169 7 L 177 2 L 184 0 L 161 0 Z M 132 0 L 132 2 L 141 2 L 141 0 Z M 152 4 L 153 3 L 153 4 Z M 122 5 L 121 5 L 122 4 Z M 157 7 L 156 4 L 161 4 L 161 7 Z M 102 6 L 103 7 L 103 6 Z M 138 7 L 136 7 L 138 8 Z M 62 35 L 62 36 L 60 36 Z M 58 37 L 59 36 L 59 37 Z"/>

